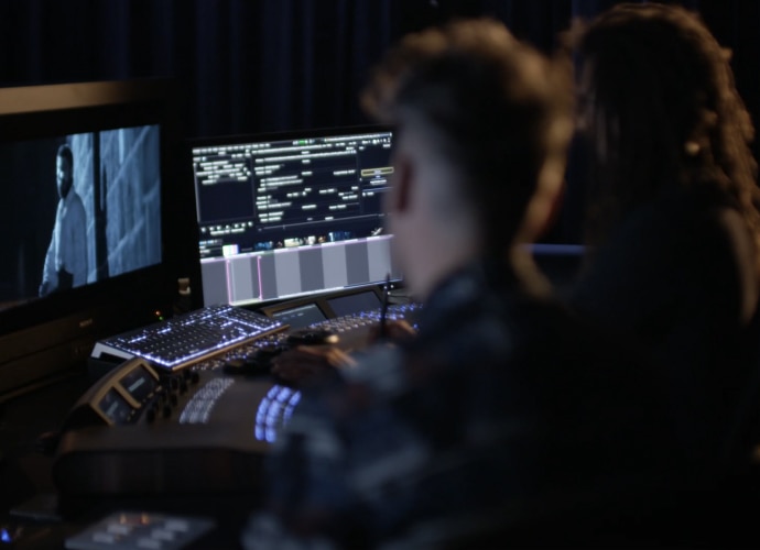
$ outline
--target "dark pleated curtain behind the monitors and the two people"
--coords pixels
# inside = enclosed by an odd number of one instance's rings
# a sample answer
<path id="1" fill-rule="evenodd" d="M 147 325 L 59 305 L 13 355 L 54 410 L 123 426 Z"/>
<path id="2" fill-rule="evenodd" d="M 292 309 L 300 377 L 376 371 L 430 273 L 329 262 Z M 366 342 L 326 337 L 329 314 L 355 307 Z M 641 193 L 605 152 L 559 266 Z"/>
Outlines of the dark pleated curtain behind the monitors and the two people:
<path id="1" fill-rule="evenodd" d="M 369 68 L 406 32 L 492 15 L 549 52 L 573 18 L 614 3 L 0 0 L 0 86 L 169 76 L 187 138 L 359 124 L 366 120 L 357 96 Z M 757 125 L 760 2 L 680 3 L 698 10 L 734 51 L 737 85 Z M 576 240 L 577 224 L 577 215 L 565 213 L 556 240 Z"/>

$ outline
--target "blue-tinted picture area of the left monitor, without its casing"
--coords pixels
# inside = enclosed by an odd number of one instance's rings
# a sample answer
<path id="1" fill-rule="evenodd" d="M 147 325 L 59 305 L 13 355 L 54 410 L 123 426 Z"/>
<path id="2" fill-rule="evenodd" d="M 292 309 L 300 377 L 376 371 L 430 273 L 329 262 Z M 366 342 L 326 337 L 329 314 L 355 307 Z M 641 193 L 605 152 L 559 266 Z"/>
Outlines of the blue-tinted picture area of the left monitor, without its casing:
<path id="1" fill-rule="evenodd" d="M 1 246 L 30 255 L 0 308 L 161 263 L 160 143 L 159 124 L 0 143 Z"/>

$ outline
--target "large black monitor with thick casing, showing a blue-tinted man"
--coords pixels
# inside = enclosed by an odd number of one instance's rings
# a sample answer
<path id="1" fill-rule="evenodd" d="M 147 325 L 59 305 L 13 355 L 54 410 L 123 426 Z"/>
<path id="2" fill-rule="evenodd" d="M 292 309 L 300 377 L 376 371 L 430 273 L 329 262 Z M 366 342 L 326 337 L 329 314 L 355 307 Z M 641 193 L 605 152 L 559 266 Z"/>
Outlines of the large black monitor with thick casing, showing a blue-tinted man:
<path id="1" fill-rule="evenodd" d="M 84 365 L 97 339 L 172 299 L 183 199 L 170 89 L 0 90 L 0 400 Z"/>

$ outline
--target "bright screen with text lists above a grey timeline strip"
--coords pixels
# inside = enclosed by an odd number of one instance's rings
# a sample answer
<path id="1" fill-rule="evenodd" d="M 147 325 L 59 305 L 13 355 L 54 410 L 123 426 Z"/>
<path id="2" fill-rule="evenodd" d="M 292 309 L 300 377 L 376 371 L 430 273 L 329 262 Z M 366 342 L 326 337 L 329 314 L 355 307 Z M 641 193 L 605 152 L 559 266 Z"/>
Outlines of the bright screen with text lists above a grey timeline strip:
<path id="1" fill-rule="evenodd" d="M 204 305 L 400 280 L 382 215 L 391 146 L 380 127 L 194 141 Z"/>

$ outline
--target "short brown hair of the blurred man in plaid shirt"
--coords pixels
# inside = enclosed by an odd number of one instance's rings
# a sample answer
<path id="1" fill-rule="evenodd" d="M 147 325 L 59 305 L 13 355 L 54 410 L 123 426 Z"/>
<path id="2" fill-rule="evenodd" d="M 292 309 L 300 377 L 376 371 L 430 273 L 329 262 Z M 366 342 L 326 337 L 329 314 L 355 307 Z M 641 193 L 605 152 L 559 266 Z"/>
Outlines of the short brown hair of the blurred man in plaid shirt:
<path id="1" fill-rule="evenodd" d="M 412 117 L 463 176 L 487 243 L 503 248 L 536 186 L 557 186 L 572 135 L 569 69 L 498 21 L 464 20 L 410 34 L 362 94 L 374 119 L 403 132 Z M 549 168 L 549 169 L 547 169 Z"/>

